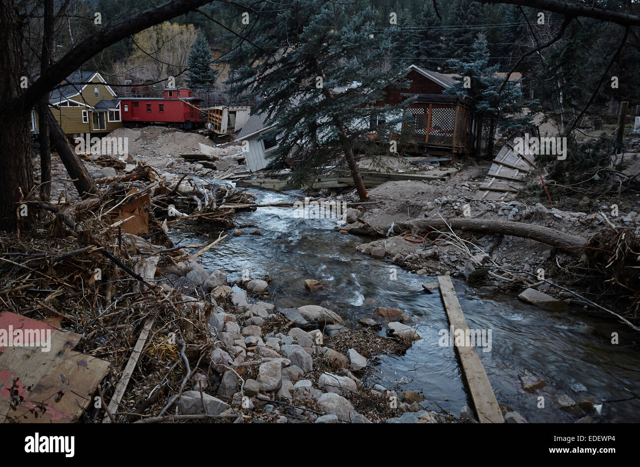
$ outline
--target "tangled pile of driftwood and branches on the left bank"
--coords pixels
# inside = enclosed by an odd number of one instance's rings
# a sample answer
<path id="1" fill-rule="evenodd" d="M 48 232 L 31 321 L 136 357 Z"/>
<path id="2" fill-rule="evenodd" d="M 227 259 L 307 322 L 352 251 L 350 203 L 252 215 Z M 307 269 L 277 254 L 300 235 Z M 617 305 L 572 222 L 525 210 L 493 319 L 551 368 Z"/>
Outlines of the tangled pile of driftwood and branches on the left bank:
<path id="1" fill-rule="evenodd" d="M 133 422 L 145 410 L 165 414 L 213 345 L 214 304 L 185 299 L 161 271 L 197 262 L 224 237 L 175 245 L 168 224 L 193 216 L 232 226 L 236 209 L 225 203 L 252 198 L 198 178 L 165 180 L 148 166 L 99 184 L 100 193 L 70 204 L 25 200 L 42 221 L 0 233 L 0 310 L 82 335 L 75 350 L 111 366 L 97 388 L 102 403 L 81 421 Z"/>

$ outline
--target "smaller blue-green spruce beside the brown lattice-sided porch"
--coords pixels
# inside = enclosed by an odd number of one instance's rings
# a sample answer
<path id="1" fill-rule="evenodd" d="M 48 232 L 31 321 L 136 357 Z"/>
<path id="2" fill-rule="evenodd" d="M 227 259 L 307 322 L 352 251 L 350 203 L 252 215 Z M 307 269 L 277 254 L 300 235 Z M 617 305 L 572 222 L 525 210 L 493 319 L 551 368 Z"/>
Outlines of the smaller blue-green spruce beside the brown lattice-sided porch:
<path id="1" fill-rule="evenodd" d="M 486 36 L 479 34 L 466 58 L 448 62 L 458 81 L 444 92 L 473 100 L 473 111 L 489 138 L 487 153 L 492 156 L 495 131 L 510 135 L 529 127 L 532 112 L 523 115 L 522 110 L 524 107 L 531 110 L 537 102 L 522 100 L 521 83 L 517 81 L 509 81 L 502 88 L 504 77 L 498 75 L 499 65 L 490 65 L 489 55 Z"/>

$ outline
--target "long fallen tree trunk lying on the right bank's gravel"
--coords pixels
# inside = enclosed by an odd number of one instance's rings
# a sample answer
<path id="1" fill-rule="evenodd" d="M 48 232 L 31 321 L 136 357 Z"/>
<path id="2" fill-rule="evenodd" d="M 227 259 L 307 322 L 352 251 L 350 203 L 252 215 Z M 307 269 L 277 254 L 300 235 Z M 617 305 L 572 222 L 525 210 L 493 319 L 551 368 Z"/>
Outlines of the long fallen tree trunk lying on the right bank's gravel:
<path id="1" fill-rule="evenodd" d="M 424 235 L 424 233 L 432 232 L 433 230 L 449 230 L 449 226 L 454 230 L 474 230 L 483 233 L 513 235 L 514 237 L 532 239 L 556 248 L 584 246 L 587 241 L 579 235 L 561 232 L 554 228 L 524 222 L 495 221 L 491 219 L 415 219 L 397 223 L 392 232 L 397 234 L 410 231 Z M 391 226 L 388 226 L 388 228 L 391 228 Z"/>

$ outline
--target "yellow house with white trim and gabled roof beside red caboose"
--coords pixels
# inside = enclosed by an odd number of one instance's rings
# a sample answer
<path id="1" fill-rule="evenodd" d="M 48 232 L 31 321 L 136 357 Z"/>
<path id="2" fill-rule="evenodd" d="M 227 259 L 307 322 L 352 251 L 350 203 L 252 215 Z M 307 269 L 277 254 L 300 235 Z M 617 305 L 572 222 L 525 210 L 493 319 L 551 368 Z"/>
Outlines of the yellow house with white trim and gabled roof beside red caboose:
<path id="1" fill-rule="evenodd" d="M 75 72 L 63 84 L 51 92 L 49 106 L 68 138 L 122 127 L 120 100 L 98 72 Z M 31 131 L 38 131 L 35 111 L 31 112 Z"/>

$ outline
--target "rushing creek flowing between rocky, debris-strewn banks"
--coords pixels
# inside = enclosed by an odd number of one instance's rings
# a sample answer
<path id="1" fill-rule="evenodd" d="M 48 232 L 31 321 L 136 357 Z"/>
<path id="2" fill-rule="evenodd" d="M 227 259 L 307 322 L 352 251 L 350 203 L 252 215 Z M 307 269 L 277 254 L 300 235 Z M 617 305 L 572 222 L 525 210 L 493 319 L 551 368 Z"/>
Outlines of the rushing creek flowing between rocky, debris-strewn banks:
<path id="1" fill-rule="evenodd" d="M 250 189 L 250 193 L 258 203 L 295 202 L 303 196 L 295 191 Z M 401 390 L 422 390 L 422 406 L 429 410 L 443 408 L 459 416 L 463 406 L 473 407 L 454 348 L 438 344 L 438 332 L 449 329 L 440 294 L 437 289 L 433 294 L 422 289 L 422 283 L 436 278 L 396 268 L 392 280 L 394 265 L 356 251 L 355 246 L 365 240 L 340 235 L 333 230 L 334 219 L 296 218 L 292 208 L 262 207 L 237 214 L 236 223 L 253 224 L 262 235 L 229 235 L 202 257 L 206 269 L 225 269 L 229 281 L 245 270 L 252 278 L 269 274 L 270 299 L 276 307 L 329 301 L 345 322 L 353 323 L 374 317 L 375 306 L 413 315 L 421 339 L 401 357 L 375 360 L 378 382 L 392 386 L 406 381 Z M 174 230 L 172 236 L 182 244 L 218 236 L 205 229 L 203 225 L 191 232 Z M 303 286 L 305 279 L 320 280 L 327 288 L 312 294 Z M 497 400 L 529 422 L 573 422 L 577 417 L 562 411 L 557 398 L 595 397 L 605 400 L 596 422 L 640 421 L 640 399 L 633 394 L 640 393 L 640 354 L 628 344 L 623 325 L 569 307 L 544 310 L 507 294 L 481 296 L 463 281 L 453 281 L 469 328 L 492 331 L 490 351 L 479 347 L 476 351 Z M 362 306 L 365 299 L 377 303 Z M 611 343 L 612 332 L 620 333 L 620 344 Z M 547 386 L 524 392 L 518 374 L 525 370 L 543 378 Z M 540 396 L 544 408 L 539 407 Z"/>

